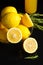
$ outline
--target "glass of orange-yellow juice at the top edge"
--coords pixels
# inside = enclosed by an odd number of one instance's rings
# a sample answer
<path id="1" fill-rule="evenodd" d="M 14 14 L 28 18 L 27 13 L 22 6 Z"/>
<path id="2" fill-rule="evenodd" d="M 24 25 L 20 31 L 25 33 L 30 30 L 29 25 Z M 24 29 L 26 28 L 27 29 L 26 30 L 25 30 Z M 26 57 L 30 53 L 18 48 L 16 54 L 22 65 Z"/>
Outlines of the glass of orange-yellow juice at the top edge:
<path id="1" fill-rule="evenodd" d="M 37 0 L 25 0 L 25 12 L 31 14 L 37 11 Z"/>

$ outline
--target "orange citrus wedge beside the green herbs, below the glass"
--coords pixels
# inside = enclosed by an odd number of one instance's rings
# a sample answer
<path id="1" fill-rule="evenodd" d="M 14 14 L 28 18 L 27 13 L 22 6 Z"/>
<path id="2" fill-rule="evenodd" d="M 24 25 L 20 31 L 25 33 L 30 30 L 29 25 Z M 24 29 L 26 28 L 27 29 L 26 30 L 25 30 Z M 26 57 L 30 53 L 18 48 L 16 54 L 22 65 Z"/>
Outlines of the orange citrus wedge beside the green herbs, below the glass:
<path id="1" fill-rule="evenodd" d="M 25 13 L 25 14 L 23 15 L 23 17 L 22 17 L 22 19 L 21 19 L 21 22 L 22 22 L 22 24 L 25 25 L 26 27 L 33 27 L 33 22 L 32 22 L 30 16 L 29 16 L 27 13 Z"/>

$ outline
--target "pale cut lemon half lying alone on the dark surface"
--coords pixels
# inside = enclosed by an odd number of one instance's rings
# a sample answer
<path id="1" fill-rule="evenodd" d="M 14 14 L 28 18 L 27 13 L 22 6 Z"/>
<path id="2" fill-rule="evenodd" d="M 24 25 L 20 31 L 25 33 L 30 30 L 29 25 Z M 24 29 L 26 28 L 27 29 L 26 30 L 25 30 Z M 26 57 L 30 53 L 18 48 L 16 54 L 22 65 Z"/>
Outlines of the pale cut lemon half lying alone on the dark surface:
<path id="1" fill-rule="evenodd" d="M 38 48 L 38 43 L 35 38 L 30 37 L 23 42 L 23 48 L 27 53 L 32 54 L 36 52 Z"/>

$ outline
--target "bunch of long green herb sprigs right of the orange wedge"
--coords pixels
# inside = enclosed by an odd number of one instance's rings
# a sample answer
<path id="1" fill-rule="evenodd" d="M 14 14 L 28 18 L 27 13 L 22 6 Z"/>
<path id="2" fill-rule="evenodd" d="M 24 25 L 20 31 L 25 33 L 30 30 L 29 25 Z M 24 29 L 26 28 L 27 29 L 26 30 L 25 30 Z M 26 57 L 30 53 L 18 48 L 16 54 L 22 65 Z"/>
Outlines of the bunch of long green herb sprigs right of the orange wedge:
<path id="1" fill-rule="evenodd" d="M 30 17 L 34 23 L 34 28 L 38 28 L 43 31 L 43 14 L 31 14 Z"/>

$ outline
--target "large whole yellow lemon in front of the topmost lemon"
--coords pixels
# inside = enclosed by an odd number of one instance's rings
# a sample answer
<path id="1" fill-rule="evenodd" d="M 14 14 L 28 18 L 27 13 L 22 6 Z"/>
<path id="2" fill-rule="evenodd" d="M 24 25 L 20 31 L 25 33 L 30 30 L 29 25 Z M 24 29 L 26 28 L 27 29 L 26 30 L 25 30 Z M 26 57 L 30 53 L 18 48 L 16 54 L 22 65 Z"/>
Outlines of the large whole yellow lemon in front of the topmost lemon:
<path id="1" fill-rule="evenodd" d="M 12 28 L 12 27 L 18 26 L 20 23 L 20 20 L 21 20 L 21 17 L 18 14 L 15 14 L 14 12 L 12 12 L 2 17 L 1 22 L 7 28 Z"/>

